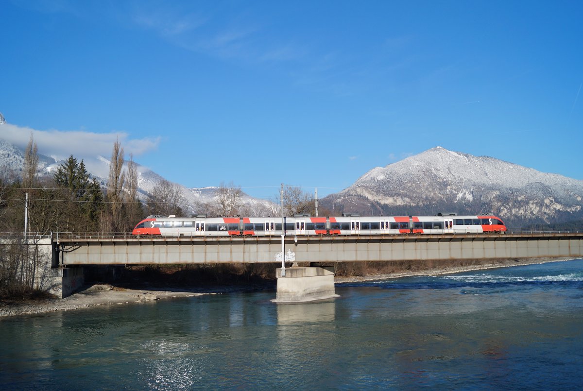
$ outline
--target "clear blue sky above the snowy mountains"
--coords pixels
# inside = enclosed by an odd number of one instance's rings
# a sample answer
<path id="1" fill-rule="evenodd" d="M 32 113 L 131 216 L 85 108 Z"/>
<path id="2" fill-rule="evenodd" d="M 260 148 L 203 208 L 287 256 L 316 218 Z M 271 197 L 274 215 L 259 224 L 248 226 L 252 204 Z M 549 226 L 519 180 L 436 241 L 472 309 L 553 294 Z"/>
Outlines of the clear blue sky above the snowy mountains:
<path id="1" fill-rule="evenodd" d="M 581 1 L 5 0 L 0 20 L 9 124 L 75 156 L 120 137 L 185 186 L 325 195 L 435 146 L 583 179 Z"/>

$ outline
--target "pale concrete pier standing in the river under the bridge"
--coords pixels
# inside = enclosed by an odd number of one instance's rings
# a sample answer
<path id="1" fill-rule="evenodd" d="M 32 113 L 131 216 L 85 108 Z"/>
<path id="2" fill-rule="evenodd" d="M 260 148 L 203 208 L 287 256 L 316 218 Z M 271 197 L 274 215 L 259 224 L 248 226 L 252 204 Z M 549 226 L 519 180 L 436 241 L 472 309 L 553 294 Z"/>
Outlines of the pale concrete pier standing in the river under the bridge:
<path id="1" fill-rule="evenodd" d="M 285 277 L 276 269 L 278 291 L 272 301 L 293 304 L 339 297 L 334 290 L 334 272 L 324 267 L 288 267 Z"/>

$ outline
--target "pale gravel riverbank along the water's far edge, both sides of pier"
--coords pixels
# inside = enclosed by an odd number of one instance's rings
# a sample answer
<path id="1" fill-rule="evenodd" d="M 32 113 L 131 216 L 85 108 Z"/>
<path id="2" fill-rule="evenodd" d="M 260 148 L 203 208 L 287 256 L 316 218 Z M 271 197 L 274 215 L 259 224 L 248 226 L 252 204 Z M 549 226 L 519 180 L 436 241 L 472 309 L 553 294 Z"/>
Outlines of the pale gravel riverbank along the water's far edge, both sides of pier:
<path id="1" fill-rule="evenodd" d="M 491 263 L 483 263 L 481 265 L 465 265 L 465 266 L 448 266 L 448 267 L 432 267 L 427 270 L 406 270 L 404 272 L 385 273 L 385 274 L 369 274 L 368 276 L 351 276 L 351 277 L 335 277 L 335 283 L 350 283 L 357 281 L 374 281 L 397 279 L 399 277 L 410 276 L 438 276 L 441 274 L 471 272 L 473 270 L 486 270 L 497 267 L 511 267 L 533 265 L 547 262 L 559 262 L 565 260 L 573 260 L 577 258 L 559 258 L 559 259 L 511 259 L 511 260 L 496 260 Z M 20 314 L 35 314 L 53 311 L 68 311 L 71 309 L 89 308 L 97 305 L 121 305 L 137 302 L 147 302 L 152 300 L 164 300 L 177 297 L 194 297 L 207 294 L 220 294 L 226 291 L 224 287 L 216 290 L 205 289 L 204 293 L 196 293 L 192 291 L 185 291 L 184 287 L 180 288 L 121 288 L 113 287 L 108 284 L 96 284 L 88 286 L 85 290 L 72 294 L 64 299 L 51 298 L 40 301 L 0 301 L 0 319 L 6 316 L 20 315 Z M 228 291 L 233 291 L 230 289 Z"/>

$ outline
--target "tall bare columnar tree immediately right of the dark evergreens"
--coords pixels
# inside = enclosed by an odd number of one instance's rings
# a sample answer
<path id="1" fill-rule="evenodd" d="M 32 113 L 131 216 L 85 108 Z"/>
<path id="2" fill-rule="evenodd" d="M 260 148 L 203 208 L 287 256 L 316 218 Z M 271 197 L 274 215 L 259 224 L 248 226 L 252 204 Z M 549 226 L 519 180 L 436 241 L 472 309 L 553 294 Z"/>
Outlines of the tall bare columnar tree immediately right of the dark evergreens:
<path id="1" fill-rule="evenodd" d="M 115 140 L 113 151 L 111 152 L 110 173 L 107 181 L 107 199 L 111 205 L 111 217 L 113 231 L 121 230 L 122 207 L 124 204 L 123 189 L 125 182 L 124 167 L 124 149 L 121 147 L 119 140 Z"/>

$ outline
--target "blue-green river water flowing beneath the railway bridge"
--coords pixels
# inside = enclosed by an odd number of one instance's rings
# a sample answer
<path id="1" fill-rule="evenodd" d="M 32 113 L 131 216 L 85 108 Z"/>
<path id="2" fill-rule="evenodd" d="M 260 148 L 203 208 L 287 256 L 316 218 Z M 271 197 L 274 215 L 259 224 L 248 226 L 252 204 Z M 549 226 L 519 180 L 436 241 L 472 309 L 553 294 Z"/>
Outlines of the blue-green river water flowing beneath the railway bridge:
<path id="1" fill-rule="evenodd" d="M 2 389 L 580 389 L 583 260 L 0 320 Z"/>

